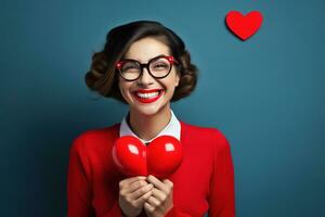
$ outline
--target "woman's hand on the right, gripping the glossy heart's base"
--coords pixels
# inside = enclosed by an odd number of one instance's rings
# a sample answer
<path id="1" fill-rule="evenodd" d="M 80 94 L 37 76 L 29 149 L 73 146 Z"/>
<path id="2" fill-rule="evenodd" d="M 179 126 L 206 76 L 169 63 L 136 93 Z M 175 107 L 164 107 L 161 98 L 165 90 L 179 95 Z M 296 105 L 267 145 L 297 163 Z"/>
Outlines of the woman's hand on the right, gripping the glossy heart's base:
<path id="1" fill-rule="evenodd" d="M 168 179 L 164 179 L 161 182 L 152 175 L 146 180 L 154 184 L 154 188 L 151 190 L 152 195 L 144 203 L 145 213 L 150 217 L 162 217 L 173 206 L 173 183 Z"/>

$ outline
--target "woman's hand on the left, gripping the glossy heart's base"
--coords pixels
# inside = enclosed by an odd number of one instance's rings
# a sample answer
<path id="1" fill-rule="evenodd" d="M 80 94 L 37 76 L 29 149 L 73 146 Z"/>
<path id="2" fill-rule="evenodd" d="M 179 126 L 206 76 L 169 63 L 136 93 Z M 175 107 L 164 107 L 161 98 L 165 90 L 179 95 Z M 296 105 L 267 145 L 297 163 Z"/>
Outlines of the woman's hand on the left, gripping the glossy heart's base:
<path id="1" fill-rule="evenodd" d="M 153 184 L 146 177 L 138 176 L 123 179 L 119 182 L 118 203 L 123 216 L 138 216 L 145 201 L 152 195 Z"/>

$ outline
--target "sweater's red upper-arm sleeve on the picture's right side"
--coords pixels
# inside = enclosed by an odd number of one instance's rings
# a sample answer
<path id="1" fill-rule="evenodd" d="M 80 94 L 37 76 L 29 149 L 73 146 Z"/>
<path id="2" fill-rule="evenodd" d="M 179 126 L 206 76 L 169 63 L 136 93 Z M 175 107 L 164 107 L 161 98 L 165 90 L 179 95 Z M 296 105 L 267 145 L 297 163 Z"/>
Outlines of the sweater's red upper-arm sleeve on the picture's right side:
<path id="1" fill-rule="evenodd" d="M 213 174 L 210 182 L 209 217 L 235 217 L 234 166 L 226 138 L 213 130 Z"/>

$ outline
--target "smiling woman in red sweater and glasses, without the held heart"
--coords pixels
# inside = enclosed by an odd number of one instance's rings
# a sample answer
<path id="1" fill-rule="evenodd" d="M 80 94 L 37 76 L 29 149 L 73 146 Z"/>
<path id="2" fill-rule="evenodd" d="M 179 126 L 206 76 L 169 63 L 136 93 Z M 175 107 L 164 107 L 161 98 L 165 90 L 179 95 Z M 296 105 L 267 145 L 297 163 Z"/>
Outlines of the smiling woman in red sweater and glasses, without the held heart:
<path id="1" fill-rule="evenodd" d="M 88 87 L 129 105 L 121 123 L 92 129 L 70 148 L 68 216 L 235 216 L 234 168 L 226 138 L 216 128 L 179 120 L 170 102 L 195 89 L 197 68 L 184 42 L 158 22 L 113 28 L 94 53 Z M 112 157 L 114 141 L 131 135 L 144 144 L 179 139 L 183 161 L 166 179 L 126 177 Z"/>

